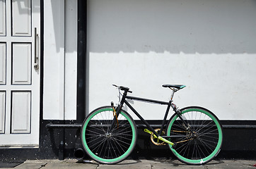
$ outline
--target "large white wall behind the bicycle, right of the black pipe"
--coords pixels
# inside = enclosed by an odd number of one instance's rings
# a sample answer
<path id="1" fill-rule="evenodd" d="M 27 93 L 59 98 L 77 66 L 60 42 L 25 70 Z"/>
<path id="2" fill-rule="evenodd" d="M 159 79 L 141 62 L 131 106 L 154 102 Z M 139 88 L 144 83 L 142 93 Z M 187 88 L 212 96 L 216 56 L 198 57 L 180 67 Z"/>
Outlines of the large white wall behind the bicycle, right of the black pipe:
<path id="1" fill-rule="evenodd" d="M 87 113 L 118 102 L 111 84 L 163 101 L 170 90 L 162 84 L 185 84 L 178 106 L 256 120 L 255 7 L 253 0 L 88 0 Z M 165 110 L 134 107 L 146 119 Z"/>

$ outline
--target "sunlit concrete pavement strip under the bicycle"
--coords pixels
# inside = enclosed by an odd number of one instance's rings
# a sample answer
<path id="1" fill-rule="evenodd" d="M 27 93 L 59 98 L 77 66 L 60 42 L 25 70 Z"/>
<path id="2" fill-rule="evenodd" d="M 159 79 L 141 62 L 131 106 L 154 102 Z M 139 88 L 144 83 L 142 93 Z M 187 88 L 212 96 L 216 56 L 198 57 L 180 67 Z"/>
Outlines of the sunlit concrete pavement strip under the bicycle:
<path id="1" fill-rule="evenodd" d="M 202 169 L 219 169 L 219 168 L 255 168 L 256 161 L 242 161 L 242 160 L 216 160 L 207 163 L 206 165 L 186 165 L 177 160 L 125 160 L 122 163 L 115 165 L 103 165 L 95 163 L 93 161 L 86 161 L 84 163 L 77 163 L 75 159 L 66 159 L 64 161 L 59 160 L 28 160 L 21 165 L 16 166 L 16 169 L 76 169 L 76 168 L 86 168 L 86 169 L 128 169 L 128 168 L 138 168 L 138 169 L 161 169 L 161 168 L 202 168 Z M 11 168 L 10 168 L 11 169 Z"/>

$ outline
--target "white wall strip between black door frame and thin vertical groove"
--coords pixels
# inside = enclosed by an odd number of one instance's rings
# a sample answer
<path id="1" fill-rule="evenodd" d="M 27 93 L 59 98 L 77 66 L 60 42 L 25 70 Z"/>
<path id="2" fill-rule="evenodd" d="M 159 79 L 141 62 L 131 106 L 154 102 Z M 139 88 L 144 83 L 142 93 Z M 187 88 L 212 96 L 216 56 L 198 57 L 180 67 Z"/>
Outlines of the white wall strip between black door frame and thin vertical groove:
<path id="1" fill-rule="evenodd" d="M 64 1 L 44 1 L 43 119 L 64 120 Z"/>

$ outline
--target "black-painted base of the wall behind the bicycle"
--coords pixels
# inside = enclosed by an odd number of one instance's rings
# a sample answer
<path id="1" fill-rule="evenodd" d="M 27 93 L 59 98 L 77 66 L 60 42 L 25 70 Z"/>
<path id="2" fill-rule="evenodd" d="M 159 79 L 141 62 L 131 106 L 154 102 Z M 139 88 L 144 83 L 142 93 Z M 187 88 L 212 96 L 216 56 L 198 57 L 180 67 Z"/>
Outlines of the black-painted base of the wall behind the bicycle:
<path id="1" fill-rule="evenodd" d="M 161 125 L 161 120 L 151 120 L 151 124 Z M 80 128 L 51 128 L 47 124 L 75 124 L 74 120 L 42 120 L 39 148 L 0 149 L 0 161 L 21 161 L 26 159 L 64 159 L 74 158 L 74 151 L 81 147 Z M 144 132 L 139 122 L 137 144 L 129 158 L 173 159 L 168 146 L 155 146 L 149 139 L 149 134 Z M 255 120 L 221 120 L 223 126 L 223 145 L 216 158 L 221 159 L 256 159 L 256 125 Z M 240 126 L 240 127 L 239 127 Z M 88 158 L 87 156 L 85 158 Z"/>

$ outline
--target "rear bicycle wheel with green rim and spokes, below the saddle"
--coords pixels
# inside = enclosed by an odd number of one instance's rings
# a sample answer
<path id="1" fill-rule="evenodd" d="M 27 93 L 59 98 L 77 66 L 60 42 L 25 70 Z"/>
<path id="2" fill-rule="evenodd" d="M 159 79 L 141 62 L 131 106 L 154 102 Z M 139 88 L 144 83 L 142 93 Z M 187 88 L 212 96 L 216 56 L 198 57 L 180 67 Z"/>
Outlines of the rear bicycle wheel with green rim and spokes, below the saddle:
<path id="1" fill-rule="evenodd" d="M 182 108 L 181 117 L 187 123 L 183 124 L 178 115 L 173 115 L 167 128 L 167 135 L 173 136 L 170 142 L 175 142 L 173 154 L 190 165 L 202 165 L 211 161 L 220 151 L 223 140 L 222 127 L 219 119 L 201 107 Z"/>

